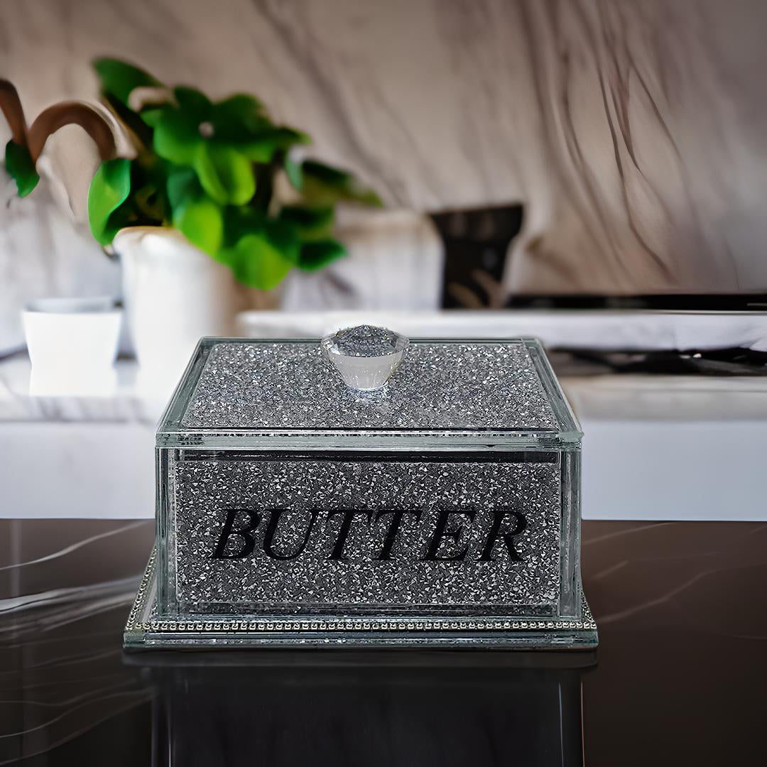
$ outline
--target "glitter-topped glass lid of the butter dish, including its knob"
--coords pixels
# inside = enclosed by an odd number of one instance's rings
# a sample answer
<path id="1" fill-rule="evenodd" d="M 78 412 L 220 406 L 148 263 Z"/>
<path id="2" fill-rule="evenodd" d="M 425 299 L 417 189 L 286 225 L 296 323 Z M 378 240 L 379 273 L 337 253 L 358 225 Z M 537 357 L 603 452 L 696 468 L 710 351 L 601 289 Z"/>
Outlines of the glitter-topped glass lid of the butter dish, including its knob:
<path id="1" fill-rule="evenodd" d="M 202 339 L 158 444 L 212 433 L 580 437 L 538 341 L 409 341 L 369 326 L 322 341 Z"/>

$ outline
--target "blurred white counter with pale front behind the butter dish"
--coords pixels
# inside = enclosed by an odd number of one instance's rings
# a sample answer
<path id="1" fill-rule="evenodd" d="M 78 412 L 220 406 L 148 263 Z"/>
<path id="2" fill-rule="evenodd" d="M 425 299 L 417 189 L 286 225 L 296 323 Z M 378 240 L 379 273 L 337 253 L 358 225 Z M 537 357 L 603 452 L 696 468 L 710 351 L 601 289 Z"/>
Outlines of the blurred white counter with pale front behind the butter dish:
<path id="1" fill-rule="evenodd" d="M 118 360 L 108 396 L 34 397 L 0 361 L 5 517 L 151 517 L 164 397 Z M 563 377 L 583 430 L 584 518 L 767 519 L 767 378 Z"/>

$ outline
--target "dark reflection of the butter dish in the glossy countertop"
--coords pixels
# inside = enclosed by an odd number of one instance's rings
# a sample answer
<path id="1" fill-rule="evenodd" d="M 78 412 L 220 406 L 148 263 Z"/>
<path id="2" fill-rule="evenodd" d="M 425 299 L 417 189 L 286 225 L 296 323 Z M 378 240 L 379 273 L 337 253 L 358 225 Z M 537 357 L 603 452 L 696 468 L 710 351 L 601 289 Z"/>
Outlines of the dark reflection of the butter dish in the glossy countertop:
<path id="1" fill-rule="evenodd" d="M 583 767 L 581 685 L 596 653 L 228 649 L 123 659 L 156 691 L 153 767 Z"/>

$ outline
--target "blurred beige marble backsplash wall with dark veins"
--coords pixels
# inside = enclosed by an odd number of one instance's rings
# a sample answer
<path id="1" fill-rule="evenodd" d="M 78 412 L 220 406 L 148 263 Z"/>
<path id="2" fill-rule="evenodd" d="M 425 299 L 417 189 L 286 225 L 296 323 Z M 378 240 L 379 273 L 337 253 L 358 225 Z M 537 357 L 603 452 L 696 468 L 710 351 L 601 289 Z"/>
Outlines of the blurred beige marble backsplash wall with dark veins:
<path id="1" fill-rule="evenodd" d="M 34 115 L 92 100 L 94 56 L 128 58 L 212 95 L 257 93 L 391 208 L 521 202 L 509 291 L 757 291 L 765 28 L 760 0 L 5 0 L 0 74 Z M 77 129 L 48 150 L 80 220 L 84 151 Z M 44 194 L 4 206 L 4 232 Z M 15 236 L 3 294 L 70 268 L 39 233 Z M 21 250 L 28 273 L 9 266 Z M 74 285 L 114 283 L 108 262 L 79 260 Z"/>

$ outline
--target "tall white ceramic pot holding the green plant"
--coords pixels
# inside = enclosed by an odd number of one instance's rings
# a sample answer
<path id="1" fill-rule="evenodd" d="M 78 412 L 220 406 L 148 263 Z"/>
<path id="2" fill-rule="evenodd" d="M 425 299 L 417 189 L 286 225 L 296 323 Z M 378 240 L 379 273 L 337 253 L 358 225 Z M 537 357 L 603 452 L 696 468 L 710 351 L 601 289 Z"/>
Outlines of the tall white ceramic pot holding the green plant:
<path id="1" fill-rule="evenodd" d="M 113 245 L 140 384 L 168 393 L 201 336 L 232 334 L 242 300 L 234 276 L 175 229 L 123 229 Z"/>

